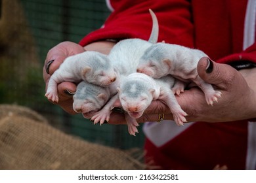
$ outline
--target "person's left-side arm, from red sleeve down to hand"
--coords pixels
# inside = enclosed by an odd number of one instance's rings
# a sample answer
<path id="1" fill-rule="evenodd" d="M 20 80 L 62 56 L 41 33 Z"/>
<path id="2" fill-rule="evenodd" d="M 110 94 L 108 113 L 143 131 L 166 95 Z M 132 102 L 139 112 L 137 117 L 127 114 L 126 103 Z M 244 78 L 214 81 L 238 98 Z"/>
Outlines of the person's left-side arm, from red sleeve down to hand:
<path id="1" fill-rule="evenodd" d="M 115 42 L 106 41 L 108 39 L 140 38 L 148 40 L 152 28 L 152 20 L 148 12 L 152 8 L 158 16 L 160 23 L 159 41 L 173 42 L 192 46 L 192 24 L 190 23 L 190 5 L 186 0 L 173 1 L 111 1 L 114 12 L 110 14 L 101 29 L 86 35 L 79 44 L 74 42 L 62 42 L 54 46 L 47 54 L 45 66 L 53 60 L 49 67 L 49 74 L 43 69 L 43 78 L 46 89 L 49 77 L 56 71 L 64 59 L 73 54 L 85 50 L 95 50 L 108 54 Z M 176 27 L 174 27 L 175 25 Z M 176 29 L 177 28 L 177 29 Z M 175 30 L 176 29 L 176 30 Z M 175 30 L 175 31 L 173 31 Z M 177 31 L 178 30 L 178 31 Z M 166 35 L 168 35 L 166 37 Z M 184 41 L 186 40 L 186 41 Z M 62 82 L 58 85 L 59 102 L 58 105 L 66 112 L 75 114 L 72 108 L 72 95 L 76 86 L 70 82 Z M 69 92 L 67 92 L 69 91 Z M 56 103 L 55 103 L 56 104 Z"/>

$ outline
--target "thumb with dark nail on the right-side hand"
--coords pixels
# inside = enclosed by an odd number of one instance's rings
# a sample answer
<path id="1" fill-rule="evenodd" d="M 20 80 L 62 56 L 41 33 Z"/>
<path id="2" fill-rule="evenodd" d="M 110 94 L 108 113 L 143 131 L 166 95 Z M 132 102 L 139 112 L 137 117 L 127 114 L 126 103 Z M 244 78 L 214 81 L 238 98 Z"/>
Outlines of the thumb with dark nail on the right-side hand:
<path id="1" fill-rule="evenodd" d="M 232 80 L 234 80 L 237 73 L 236 69 L 230 65 L 216 63 L 207 57 L 203 57 L 198 61 L 197 69 L 200 78 L 219 88 L 227 88 L 229 84 L 232 84 Z"/>

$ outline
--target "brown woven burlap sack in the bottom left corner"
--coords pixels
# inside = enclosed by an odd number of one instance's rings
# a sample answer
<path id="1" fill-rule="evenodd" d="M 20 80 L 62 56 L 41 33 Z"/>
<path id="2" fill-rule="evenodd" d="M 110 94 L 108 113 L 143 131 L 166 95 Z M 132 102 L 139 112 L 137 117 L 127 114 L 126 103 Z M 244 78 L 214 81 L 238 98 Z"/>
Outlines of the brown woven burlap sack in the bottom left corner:
<path id="1" fill-rule="evenodd" d="M 28 108 L 0 105 L 0 169 L 145 168 L 122 150 L 66 135 L 45 122 Z"/>

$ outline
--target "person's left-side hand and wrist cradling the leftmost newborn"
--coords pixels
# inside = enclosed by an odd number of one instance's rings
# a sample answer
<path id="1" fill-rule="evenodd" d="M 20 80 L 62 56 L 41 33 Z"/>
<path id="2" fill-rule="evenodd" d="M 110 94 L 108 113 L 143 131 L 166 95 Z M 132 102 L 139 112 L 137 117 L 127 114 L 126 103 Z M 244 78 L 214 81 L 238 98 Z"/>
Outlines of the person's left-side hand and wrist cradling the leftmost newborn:
<path id="1" fill-rule="evenodd" d="M 56 71 L 56 69 L 60 67 L 60 64 L 64 61 L 64 59 L 68 58 L 68 56 L 80 54 L 81 52 L 85 52 L 85 50 L 93 50 L 101 52 L 103 54 L 108 54 L 112 46 L 114 46 L 114 42 L 108 41 L 93 42 L 85 46 L 85 48 L 75 42 L 69 41 L 60 42 L 60 44 L 54 46 L 51 50 L 49 50 L 47 58 L 45 59 L 45 67 L 43 68 L 43 79 L 45 80 L 46 84 L 45 91 L 47 90 L 48 82 L 51 75 L 53 75 L 54 71 Z M 58 84 L 58 103 L 55 103 L 51 100 L 50 101 L 54 104 L 60 105 L 60 107 L 62 107 L 66 112 L 70 114 L 76 114 L 76 112 L 73 110 L 72 105 L 72 93 L 74 93 L 75 90 L 76 85 L 74 83 L 62 82 Z"/>

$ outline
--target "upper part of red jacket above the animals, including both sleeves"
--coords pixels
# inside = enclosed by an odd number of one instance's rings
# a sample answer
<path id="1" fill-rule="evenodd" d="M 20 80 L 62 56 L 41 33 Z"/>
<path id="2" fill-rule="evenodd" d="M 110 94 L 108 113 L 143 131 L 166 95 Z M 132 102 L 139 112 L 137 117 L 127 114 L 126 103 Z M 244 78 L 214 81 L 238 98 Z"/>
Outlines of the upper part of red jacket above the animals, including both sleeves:
<path id="1" fill-rule="evenodd" d="M 160 24 L 158 41 L 198 48 L 220 63 L 256 62 L 255 44 L 242 52 L 246 0 L 193 0 L 191 3 L 186 0 L 115 0 L 111 5 L 115 10 L 104 27 L 86 35 L 79 44 L 135 37 L 148 40 L 152 28 L 148 9 L 151 8 Z"/>

